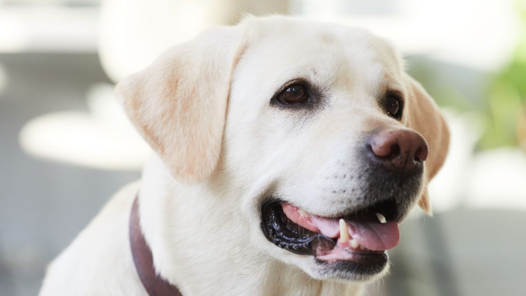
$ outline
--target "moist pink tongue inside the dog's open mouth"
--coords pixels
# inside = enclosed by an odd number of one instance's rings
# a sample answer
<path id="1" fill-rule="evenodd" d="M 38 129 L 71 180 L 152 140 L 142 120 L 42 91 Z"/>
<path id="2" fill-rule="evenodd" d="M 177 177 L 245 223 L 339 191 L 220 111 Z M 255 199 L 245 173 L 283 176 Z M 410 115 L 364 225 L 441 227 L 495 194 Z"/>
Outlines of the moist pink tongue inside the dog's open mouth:
<path id="1" fill-rule="evenodd" d="M 338 238 L 340 228 L 338 220 L 310 216 L 312 223 L 319 232 L 329 238 Z M 372 251 L 384 251 L 395 248 L 400 241 L 400 231 L 395 221 L 380 223 L 380 221 L 345 221 L 351 238 Z"/>

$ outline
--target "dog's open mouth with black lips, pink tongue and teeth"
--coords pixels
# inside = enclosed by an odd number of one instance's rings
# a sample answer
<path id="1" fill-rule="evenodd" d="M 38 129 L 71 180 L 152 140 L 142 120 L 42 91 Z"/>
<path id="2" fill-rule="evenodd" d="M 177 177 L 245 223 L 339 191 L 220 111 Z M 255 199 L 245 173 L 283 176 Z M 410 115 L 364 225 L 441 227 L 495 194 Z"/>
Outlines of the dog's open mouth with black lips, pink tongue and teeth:
<path id="1" fill-rule="evenodd" d="M 334 265 L 361 275 L 381 272 L 386 250 L 400 240 L 399 216 L 394 200 L 378 202 L 352 214 L 323 217 L 287 202 L 261 206 L 261 228 L 266 238 L 282 249 L 313 255 L 321 264 Z"/>

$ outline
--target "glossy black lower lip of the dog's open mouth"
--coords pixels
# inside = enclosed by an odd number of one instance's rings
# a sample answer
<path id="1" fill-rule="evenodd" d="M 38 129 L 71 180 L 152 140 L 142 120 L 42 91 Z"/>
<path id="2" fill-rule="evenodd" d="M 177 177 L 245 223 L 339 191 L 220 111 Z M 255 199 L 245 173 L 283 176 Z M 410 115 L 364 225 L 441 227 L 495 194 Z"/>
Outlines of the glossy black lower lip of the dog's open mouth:
<path id="1" fill-rule="evenodd" d="M 315 257 L 335 248 L 336 239 L 309 231 L 288 220 L 281 203 L 270 200 L 261 205 L 261 230 L 268 241 L 289 252 Z M 352 261 L 326 262 L 316 259 L 316 262 L 322 265 L 322 273 L 343 273 L 342 278 L 356 279 L 381 272 L 387 260 L 386 252 L 354 252 Z"/>

